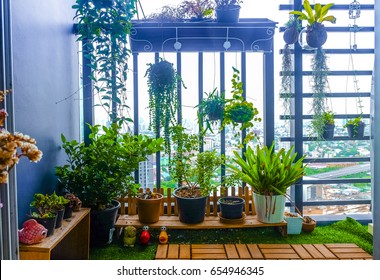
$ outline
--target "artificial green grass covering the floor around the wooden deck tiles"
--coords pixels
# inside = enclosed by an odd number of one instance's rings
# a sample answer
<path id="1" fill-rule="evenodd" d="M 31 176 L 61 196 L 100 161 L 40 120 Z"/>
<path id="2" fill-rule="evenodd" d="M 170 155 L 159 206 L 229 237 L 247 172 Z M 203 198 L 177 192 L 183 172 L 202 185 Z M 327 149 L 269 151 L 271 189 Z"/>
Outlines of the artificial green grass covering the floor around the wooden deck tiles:
<path id="1" fill-rule="evenodd" d="M 140 235 L 138 231 L 138 236 Z M 92 260 L 153 260 L 158 245 L 159 230 L 151 230 L 151 242 L 142 246 L 137 242 L 135 247 L 124 247 L 123 238 L 111 244 L 91 248 Z M 269 243 L 269 244 L 322 244 L 322 243 L 355 243 L 367 253 L 373 253 L 372 235 L 367 226 L 352 218 L 346 218 L 327 226 L 318 226 L 311 233 L 288 235 L 283 237 L 271 227 L 246 229 L 210 229 L 210 230 L 170 230 L 171 244 L 228 244 L 228 243 Z"/>

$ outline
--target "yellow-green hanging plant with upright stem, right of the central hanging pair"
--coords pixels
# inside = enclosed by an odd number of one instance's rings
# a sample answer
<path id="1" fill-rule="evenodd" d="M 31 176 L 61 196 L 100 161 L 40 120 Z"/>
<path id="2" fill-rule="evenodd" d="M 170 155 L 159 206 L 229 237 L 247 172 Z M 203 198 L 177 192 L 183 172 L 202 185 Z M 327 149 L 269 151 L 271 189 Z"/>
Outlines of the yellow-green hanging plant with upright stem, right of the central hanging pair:
<path id="1" fill-rule="evenodd" d="M 231 79 L 232 98 L 226 99 L 221 129 L 227 125 L 232 125 L 233 129 L 240 127 L 239 130 L 243 131 L 253 128 L 254 122 L 260 122 L 261 118 L 258 117 L 259 111 L 253 106 L 253 103 L 243 97 L 243 82 L 240 80 L 240 71 L 235 67 L 232 69 L 234 72 Z M 235 134 L 235 137 L 237 136 L 240 136 L 240 132 Z M 249 131 L 242 144 L 252 141 L 256 136 L 256 133 Z"/>

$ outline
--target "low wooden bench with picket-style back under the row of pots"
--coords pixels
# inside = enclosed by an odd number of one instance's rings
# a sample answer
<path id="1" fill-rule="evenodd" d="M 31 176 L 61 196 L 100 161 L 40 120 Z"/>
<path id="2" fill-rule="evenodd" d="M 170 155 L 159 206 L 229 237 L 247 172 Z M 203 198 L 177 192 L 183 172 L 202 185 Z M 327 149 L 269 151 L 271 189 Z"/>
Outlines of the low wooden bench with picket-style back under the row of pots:
<path id="1" fill-rule="evenodd" d="M 140 192 L 143 190 L 140 189 Z M 156 189 L 153 189 L 156 192 Z M 150 228 L 161 228 L 166 226 L 170 229 L 215 229 L 215 228 L 257 228 L 257 227 L 274 227 L 279 229 L 282 235 L 287 235 L 287 223 L 285 221 L 275 224 L 265 224 L 259 222 L 256 218 L 255 204 L 252 198 L 252 190 L 249 187 L 245 187 L 244 191 L 242 187 L 237 189 L 231 188 L 229 196 L 238 196 L 245 200 L 244 207 L 244 220 L 241 223 L 226 223 L 222 222 L 219 218 L 219 212 L 217 207 L 220 194 L 214 192 L 209 196 L 206 204 L 206 216 L 202 223 L 198 224 L 184 224 L 178 218 L 178 209 L 175 201 L 175 197 L 172 196 L 171 189 L 167 189 L 167 193 L 164 194 L 163 190 L 160 193 L 164 195 L 164 199 L 161 204 L 160 220 L 157 223 L 149 224 Z M 227 193 L 223 193 L 222 196 L 227 196 Z M 125 197 L 119 199 L 121 202 L 120 215 L 116 221 L 115 227 L 120 229 L 126 226 L 134 226 L 141 228 L 145 224 L 140 223 L 137 215 L 137 203 L 133 197 Z"/>

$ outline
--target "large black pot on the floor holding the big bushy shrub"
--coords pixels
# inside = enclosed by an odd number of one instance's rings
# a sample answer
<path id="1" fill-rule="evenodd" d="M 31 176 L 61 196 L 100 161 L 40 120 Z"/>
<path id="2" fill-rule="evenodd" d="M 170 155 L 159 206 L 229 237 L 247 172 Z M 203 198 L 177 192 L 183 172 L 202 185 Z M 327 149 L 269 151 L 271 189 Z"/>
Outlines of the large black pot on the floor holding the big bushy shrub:
<path id="1" fill-rule="evenodd" d="M 117 212 L 120 202 L 112 201 L 113 207 L 104 210 L 91 210 L 90 212 L 90 245 L 104 246 L 110 244 L 115 231 Z"/>

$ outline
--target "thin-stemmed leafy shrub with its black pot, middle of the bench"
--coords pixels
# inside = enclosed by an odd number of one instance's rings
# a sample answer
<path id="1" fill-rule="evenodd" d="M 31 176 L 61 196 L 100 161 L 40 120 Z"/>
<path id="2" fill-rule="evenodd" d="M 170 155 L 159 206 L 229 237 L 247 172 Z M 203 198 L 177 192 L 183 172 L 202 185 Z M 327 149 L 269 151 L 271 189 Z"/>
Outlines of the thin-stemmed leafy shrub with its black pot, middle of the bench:
<path id="1" fill-rule="evenodd" d="M 217 187 L 213 177 L 222 158 L 215 150 L 199 152 L 198 135 L 187 134 L 180 125 L 173 127 L 172 137 L 177 147 L 169 164 L 172 178 L 180 184 L 174 191 L 179 219 L 187 224 L 200 223 L 207 198 Z"/>

